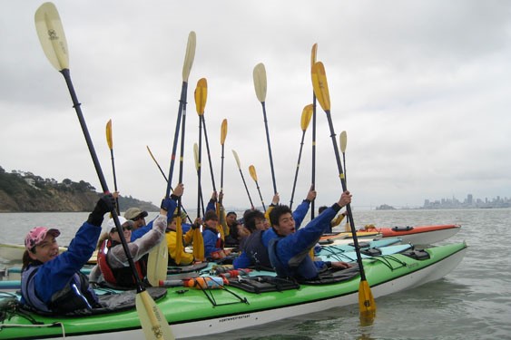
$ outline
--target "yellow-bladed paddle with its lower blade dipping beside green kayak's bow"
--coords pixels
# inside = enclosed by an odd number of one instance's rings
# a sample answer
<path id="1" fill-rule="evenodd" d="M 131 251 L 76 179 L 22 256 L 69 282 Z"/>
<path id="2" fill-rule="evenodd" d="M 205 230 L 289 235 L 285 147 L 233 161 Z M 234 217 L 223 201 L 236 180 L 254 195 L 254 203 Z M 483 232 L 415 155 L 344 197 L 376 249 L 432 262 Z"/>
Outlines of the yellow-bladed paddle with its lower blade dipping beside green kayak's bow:
<path id="1" fill-rule="evenodd" d="M 344 178 L 344 172 L 342 171 L 342 165 L 340 164 L 339 149 L 337 141 L 335 139 L 335 132 L 330 116 L 330 97 L 329 97 L 329 84 L 327 83 L 327 74 L 325 73 L 325 67 L 323 63 L 315 63 L 312 67 L 312 86 L 314 87 L 314 93 L 318 98 L 319 105 L 323 111 L 327 114 L 329 121 L 330 137 L 332 140 L 335 158 L 337 162 L 337 168 L 339 170 L 340 183 L 344 191 L 347 190 L 346 179 Z M 362 263 L 362 257 L 360 256 L 359 240 L 357 238 L 357 229 L 355 228 L 355 222 L 353 221 L 353 214 L 351 212 L 351 205 L 346 206 L 348 212 L 349 226 L 351 227 L 351 233 L 353 234 L 353 243 L 355 244 L 355 250 L 357 251 L 357 262 L 360 268 L 360 286 L 359 286 L 359 309 L 360 309 L 360 320 L 362 323 L 371 322 L 374 316 L 376 316 L 376 303 L 371 293 L 369 283 L 366 279 L 364 272 L 364 265 Z"/>

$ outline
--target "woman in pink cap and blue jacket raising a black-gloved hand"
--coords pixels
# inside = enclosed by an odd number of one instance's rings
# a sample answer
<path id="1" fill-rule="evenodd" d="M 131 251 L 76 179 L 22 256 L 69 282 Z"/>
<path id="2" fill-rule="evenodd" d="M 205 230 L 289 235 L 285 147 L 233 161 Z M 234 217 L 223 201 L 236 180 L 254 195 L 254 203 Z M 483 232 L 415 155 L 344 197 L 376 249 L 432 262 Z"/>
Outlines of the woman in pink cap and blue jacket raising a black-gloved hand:
<path id="1" fill-rule="evenodd" d="M 80 269 L 93 255 L 103 216 L 115 207 L 112 194 L 104 195 L 78 229 L 66 251 L 59 255 L 60 231 L 36 227 L 25 237 L 21 302 L 42 312 L 64 314 L 92 309 L 98 299 Z"/>

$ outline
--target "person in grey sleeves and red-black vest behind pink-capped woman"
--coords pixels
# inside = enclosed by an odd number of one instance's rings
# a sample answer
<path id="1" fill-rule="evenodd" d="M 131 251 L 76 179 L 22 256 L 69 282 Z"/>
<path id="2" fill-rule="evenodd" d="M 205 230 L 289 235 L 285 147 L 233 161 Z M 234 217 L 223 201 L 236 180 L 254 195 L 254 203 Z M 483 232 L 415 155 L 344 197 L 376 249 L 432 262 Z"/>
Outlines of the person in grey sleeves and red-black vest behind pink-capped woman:
<path id="1" fill-rule="evenodd" d="M 152 222 L 152 229 L 145 233 L 142 238 L 137 238 L 133 242 L 131 239 L 131 228 L 123 228 L 123 235 L 128 242 L 130 254 L 133 257 L 136 270 L 139 277 L 146 275 L 147 267 L 144 256 L 151 249 L 157 246 L 165 235 L 167 228 L 167 213 L 173 214 L 177 207 L 177 199 L 182 196 L 184 187 L 182 184 L 176 186 L 170 199 L 163 199 L 160 214 Z M 98 264 L 93 267 L 89 279 L 98 284 L 105 283 L 113 287 L 132 288 L 136 281 L 133 277 L 132 269 L 128 263 L 128 257 L 124 252 L 123 245 L 119 238 L 119 230 L 110 228 L 108 238 L 103 241 L 98 252 Z"/>

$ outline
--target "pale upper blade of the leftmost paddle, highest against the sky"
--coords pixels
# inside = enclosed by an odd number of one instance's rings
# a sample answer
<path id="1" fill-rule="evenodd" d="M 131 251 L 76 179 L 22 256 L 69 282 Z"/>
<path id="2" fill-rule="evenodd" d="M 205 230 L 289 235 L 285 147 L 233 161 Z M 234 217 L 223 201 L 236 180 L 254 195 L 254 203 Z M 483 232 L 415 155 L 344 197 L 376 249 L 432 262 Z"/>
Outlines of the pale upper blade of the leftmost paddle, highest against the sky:
<path id="1" fill-rule="evenodd" d="M 35 11 L 35 30 L 46 58 L 57 71 L 69 69 L 69 55 L 64 28 L 53 3 L 44 3 Z"/>

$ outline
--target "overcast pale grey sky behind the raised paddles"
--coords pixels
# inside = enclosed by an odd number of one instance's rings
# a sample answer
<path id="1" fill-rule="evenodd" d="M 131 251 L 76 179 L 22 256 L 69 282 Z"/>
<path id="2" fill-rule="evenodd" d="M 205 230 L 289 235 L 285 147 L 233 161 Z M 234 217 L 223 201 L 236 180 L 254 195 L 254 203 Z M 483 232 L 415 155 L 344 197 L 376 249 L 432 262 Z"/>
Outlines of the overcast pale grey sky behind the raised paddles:
<path id="1" fill-rule="evenodd" d="M 101 190 L 64 82 L 34 28 L 42 1 L 3 0 L 0 13 L 0 166 L 43 178 L 85 180 Z M 197 207 L 193 92 L 206 78 L 204 112 L 212 169 L 224 205 L 246 209 L 273 196 L 262 105 L 252 72 L 264 63 L 275 183 L 289 204 L 303 108 L 312 102 L 310 57 L 325 65 L 327 113 L 318 105 L 319 205 L 342 191 L 332 140 L 344 154 L 354 209 L 418 207 L 424 199 L 511 197 L 511 3 L 507 1 L 54 1 L 71 79 L 109 189 L 105 125 L 113 121 L 117 188 L 159 204 L 166 191 L 188 35 L 197 44 L 188 79 L 183 203 Z M 221 121 L 227 119 L 221 183 Z M 312 182 L 312 124 L 305 131 L 293 205 Z M 202 131 L 201 189 L 213 189 Z M 181 137 L 180 137 L 181 139 Z M 181 146 L 178 144 L 178 154 Z M 342 155 L 341 155 L 342 158 Z M 172 186 L 180 177 L 179 158 Z M 223 186 L 221 187 L 221 184 Z M 190 209 L 190 208 L 189 208 Z"/>

